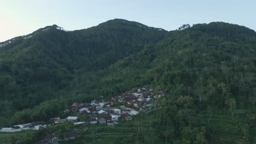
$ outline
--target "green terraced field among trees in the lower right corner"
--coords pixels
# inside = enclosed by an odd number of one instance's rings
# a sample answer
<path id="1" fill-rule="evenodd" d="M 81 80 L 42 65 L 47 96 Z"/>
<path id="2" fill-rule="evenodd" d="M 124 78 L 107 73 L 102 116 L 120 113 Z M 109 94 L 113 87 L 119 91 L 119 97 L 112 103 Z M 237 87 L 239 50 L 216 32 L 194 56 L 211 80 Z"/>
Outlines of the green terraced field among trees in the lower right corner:
<path id="1" fill-rule="evenodd" d="M 247 114 L 255 113 L 252 110 L 237 110 L 232 118 L 228 112 L 202 113 L 201 118 L 212 131 L 211 143 L 237 143 L 242 139 L 239 129 L 241 124 L 248 124 Z M 256 122 L 252 124 L 256 125 Z M 251 129 L 252 135 L 256 136 L 256 128 Z"/>

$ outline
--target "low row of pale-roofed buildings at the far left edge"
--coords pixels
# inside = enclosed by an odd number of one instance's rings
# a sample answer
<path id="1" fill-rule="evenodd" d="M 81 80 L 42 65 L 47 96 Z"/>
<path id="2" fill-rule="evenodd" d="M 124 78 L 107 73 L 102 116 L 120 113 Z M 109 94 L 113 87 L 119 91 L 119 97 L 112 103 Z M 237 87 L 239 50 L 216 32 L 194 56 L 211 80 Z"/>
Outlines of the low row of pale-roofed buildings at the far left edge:
<path id="1" fill-rule="evenodd" d="M 17 132 L 22 130 L 39 130 L 40 127 L 46 127 L 44 122 L 32 122 L 32 123 L 25 123 L 25 124 L 18 124 L 14 125 L 12 128 L 2 128 L 0 132 Z"/>

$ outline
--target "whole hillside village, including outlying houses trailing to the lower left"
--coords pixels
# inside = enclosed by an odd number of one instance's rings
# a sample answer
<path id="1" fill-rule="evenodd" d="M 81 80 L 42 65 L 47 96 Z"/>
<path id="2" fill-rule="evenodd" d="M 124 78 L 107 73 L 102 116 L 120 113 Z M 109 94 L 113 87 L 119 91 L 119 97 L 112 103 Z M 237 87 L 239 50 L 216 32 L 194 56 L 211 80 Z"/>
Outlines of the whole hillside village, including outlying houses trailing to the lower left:
<path id="1" fill-rule="evenodd" d="M 160 104 L 156 100 L 163 97 L 165 92 L 154 92 L 153 88 L 133 88 L 121 95 L 112 97 L 111 99 L 104 99 L 100 96 L 100 100 L 92 100 L 90 103 L 73 102 L 69 110 L 73 115 L 65 118 L 55 117 L 51 118 L 50 124 L 45 122 L 32 122 L 26 124 L 14 125 L 13 128 L 2 128 L 0 132 L 14 133 L 22 130 L 39 130 L 40 127 L 51 127 L 60 123 L 73 123 L 74 125 L 82 124 L 104 124 L 110 127 L 118 124 L 120 121 L 132 121 L 134 117 L 140 112 L 148 112 L 158 109 Z M 85 127 L 83 130 L 88 130 Z M 79 137 L 77 131 L 66 133 L 62 140 L 71 140 Z M 39 141 L 40 144 L 57 143 L 59 138 L 54 134 L 45 136 L 45 139 Z"/>

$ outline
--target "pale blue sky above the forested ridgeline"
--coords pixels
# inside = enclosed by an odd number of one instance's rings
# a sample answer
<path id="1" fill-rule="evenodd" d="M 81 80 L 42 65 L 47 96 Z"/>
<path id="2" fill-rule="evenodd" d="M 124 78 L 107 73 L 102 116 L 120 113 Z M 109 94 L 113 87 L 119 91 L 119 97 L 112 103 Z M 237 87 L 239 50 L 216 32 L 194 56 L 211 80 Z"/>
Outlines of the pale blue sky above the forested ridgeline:
<path id="1" fill-rule="evenodd" d="M 0 41 L 54 24 L 73 31 L 116 18 L 167 31 L 213 21 L 255 31 L 255 16 L 255 0 L 0 0 Z"/>

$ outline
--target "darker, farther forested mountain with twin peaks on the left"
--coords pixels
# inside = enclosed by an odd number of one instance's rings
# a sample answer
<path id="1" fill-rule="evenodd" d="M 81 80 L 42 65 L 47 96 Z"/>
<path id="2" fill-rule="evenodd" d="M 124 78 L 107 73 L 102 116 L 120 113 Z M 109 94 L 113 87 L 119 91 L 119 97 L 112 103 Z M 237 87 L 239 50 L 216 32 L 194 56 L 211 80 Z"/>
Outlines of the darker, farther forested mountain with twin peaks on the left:
<path id="1" fill-rule="evenodd" d="M 114 19 L 71 32 L 48 26 L 5 41 L 0 47 L 1 115 L 55 97 L 56 91 L 68 87 L 77 69 L 105 69 L 166 34 L 164 29 Z"/>

